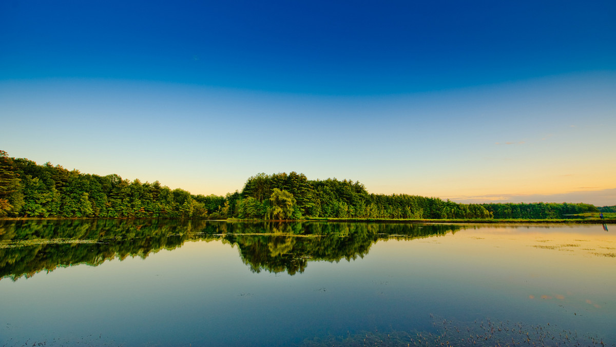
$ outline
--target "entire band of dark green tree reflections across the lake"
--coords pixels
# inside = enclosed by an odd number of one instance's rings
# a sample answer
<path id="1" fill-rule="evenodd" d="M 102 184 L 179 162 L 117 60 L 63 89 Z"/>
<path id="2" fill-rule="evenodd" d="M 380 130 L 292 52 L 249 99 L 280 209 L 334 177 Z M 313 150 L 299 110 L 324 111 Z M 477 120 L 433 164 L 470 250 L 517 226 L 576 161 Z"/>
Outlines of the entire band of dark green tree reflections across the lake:
<path id="1" fill-rule="evenodd" d="M 147 258 L 190 240 L 237 245 L 253 272 L 306 270 L 308 261 L 351 261 L 379 239 L 416 239 L 458 226 L 344 222 L 227 222 L 156 219 L 0 221 L 0 278 L 17 280 L 76 264 Z"/>

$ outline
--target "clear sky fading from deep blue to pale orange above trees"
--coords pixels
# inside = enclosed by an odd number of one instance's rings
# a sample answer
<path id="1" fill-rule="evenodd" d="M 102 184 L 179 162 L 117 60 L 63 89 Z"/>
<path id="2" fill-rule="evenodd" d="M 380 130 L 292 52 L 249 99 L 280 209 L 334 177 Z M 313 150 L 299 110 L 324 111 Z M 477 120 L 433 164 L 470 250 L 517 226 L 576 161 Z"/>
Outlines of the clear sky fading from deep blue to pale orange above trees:
<path id="1" fill-rule="evenodd" d="M 0 1 L 0 149 L 225 195 L 258 173 L 616 205 L 614 1 Z"/>

